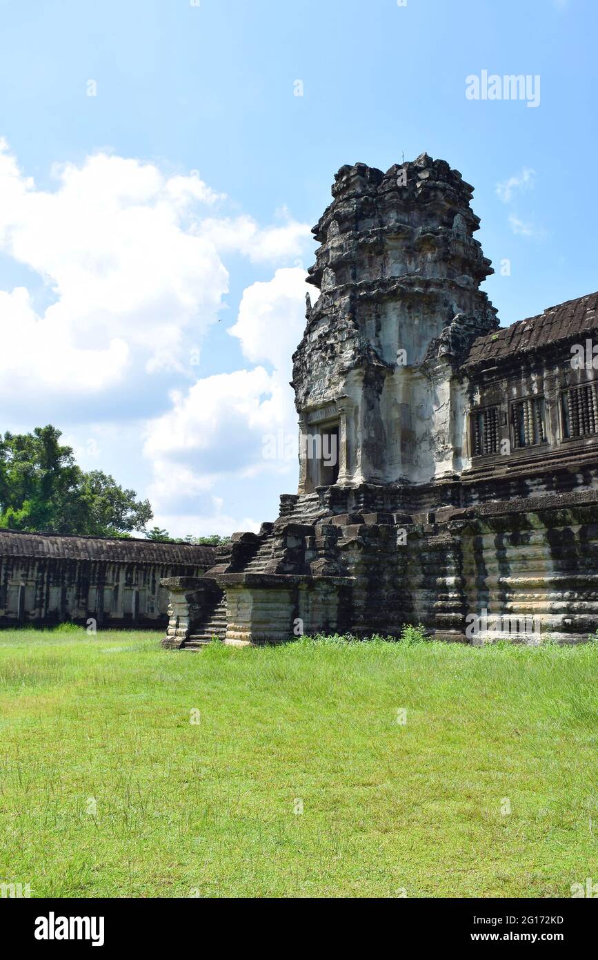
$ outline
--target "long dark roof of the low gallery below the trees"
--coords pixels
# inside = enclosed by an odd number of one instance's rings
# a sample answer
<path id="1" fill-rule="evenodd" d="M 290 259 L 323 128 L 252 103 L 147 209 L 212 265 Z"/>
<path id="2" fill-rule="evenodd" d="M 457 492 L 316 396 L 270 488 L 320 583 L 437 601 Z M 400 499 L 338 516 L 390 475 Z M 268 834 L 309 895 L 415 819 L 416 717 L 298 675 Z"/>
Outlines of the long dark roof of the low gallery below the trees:
<path id="1" fill-rule="evenodd" d="M 216 547 L 158 542 L 127 537 L 71 537 L 21 533 L 0 527 L 0 557 L 51 557 L 121 564 L 189 564 L 212 566 Z"/>

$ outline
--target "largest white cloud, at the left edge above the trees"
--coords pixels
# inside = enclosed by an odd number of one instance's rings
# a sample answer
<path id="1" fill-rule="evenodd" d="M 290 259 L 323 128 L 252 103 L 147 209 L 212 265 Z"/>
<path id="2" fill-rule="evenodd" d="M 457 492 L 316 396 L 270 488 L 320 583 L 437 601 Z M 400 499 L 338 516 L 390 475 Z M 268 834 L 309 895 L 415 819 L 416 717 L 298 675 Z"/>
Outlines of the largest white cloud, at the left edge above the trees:
<path id="1" fill-rule="evenodd" d="M 191 376 L 189 338 L 201 341 L 228 290 L 220 254 L 284 260 L 310 235 L 287 212 L 264 229 L 219 220 L 225 197 L 196 171 L 169 178 L 97 154 L 53 174 L 54 191 L 36 188 L 0 140 L 0 252 L 54 300 L 38 313 L 27 289 L 0 291 L 0 398 L 108 396 L 133 381 L 141 394 L 147 373 Z"/>

